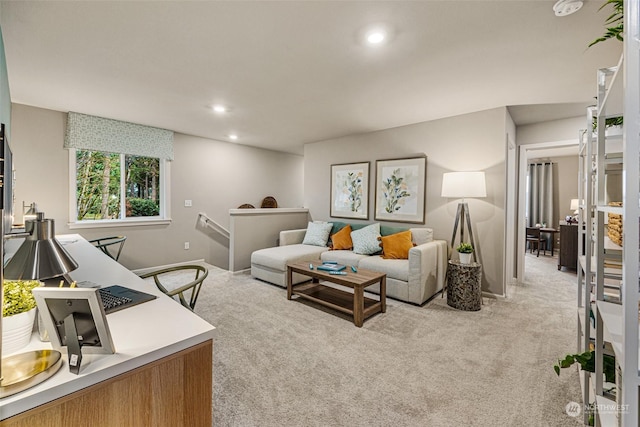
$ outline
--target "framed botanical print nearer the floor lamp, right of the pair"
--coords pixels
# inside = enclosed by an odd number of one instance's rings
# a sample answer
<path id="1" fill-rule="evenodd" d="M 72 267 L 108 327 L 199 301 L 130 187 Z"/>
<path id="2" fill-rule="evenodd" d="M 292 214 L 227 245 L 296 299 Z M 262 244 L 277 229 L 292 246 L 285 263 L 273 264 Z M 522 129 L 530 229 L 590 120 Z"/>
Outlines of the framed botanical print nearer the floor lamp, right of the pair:
<path id="1" fill-rule="evenodd" d="M 426 184 L 426 156 L 377 160 L 375 219 L 424 224 Z"/>

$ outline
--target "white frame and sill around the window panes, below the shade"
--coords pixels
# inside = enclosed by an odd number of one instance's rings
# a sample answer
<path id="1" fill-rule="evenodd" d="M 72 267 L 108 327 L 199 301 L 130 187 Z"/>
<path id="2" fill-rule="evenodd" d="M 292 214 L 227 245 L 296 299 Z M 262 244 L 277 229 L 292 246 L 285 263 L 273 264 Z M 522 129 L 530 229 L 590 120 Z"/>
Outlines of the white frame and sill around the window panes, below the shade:
<path id="1" fill-rule="evenodd" d="M 160 215 L 153 217 L 135 217 L 125 218 L 126 206 L 120 204 L 120 214 L 123 218 L 118 219 L 86 219 L 78 220 L 78 200 L 77 200 L 77 171 L 76 171 L 76 148 L 69 149 L 69 229 L 78 228 L 101 228 L 101 227 L 127 227 L 127 226 L 144 226 L 144 225 L 163 225 L 171 223 L 169 182 L 171 182 L 171 162 L 166 159 L 158 159 L 160 162 Z M 84 150 L 99 151 L 99 150 Z M 120 155 L 120 192 L 121 197 L 126 198 L 125 191 L 125 153 L 115 153 Z M 138 156 L 140 157 L 140 156 Z M 145 157 L 145 156 L 142 156 Z M 149 157 L 149 156 L 146 156 Z"/>

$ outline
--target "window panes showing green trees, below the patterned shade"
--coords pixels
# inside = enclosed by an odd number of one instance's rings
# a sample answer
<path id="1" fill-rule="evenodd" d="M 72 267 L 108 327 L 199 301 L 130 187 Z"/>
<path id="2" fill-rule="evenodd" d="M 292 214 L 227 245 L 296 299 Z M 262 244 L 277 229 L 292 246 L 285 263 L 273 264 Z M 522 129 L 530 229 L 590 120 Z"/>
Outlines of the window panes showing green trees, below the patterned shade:
<path id="1" fill-rule="evenodd" d="M 165 161 L 153 157 L 70 150 L 76 223 L 165 219 Z"/>

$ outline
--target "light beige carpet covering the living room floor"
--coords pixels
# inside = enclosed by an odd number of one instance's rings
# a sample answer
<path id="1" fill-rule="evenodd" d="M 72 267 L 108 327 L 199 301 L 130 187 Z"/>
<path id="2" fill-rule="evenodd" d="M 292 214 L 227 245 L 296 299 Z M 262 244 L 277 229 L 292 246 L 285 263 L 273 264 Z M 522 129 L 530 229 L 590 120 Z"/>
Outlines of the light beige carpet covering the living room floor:
<path id="1" fill-rule="evenodd" d="M 388 300 L 365 321 L 287 301 L 211 267 L 196 313 L 216 327 L 216 426 L 578 426 L 576 276 L 527 256 L 526 283 L 479 312 Z"/>

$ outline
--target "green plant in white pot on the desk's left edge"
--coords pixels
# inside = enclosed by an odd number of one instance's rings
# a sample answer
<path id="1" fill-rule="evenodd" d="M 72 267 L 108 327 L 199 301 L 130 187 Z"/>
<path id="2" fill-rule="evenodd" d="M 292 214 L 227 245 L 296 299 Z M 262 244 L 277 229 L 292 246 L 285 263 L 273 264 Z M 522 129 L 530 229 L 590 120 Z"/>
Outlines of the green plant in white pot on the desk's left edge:
<path id="1" fill-rule="evenodd" d="M 2 301 L 2 353 L 9 354 L 29 344 L 36 317 L 36 300 L 31 290 L 36 280 L 5 280 Z"/>

